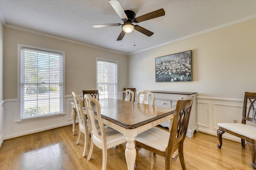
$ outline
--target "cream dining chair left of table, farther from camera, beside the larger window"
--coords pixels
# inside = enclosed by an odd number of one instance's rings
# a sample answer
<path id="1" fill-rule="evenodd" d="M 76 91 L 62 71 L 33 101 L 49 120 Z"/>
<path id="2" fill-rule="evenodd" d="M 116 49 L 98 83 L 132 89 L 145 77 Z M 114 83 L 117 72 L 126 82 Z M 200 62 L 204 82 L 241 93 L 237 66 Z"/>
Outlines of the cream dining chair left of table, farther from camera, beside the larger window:
<path id="1" fill-rule="evenodd" d="M 74 98 L 74 105 L 78 117 L 78 126 L 79 126 L 79 132 L 78 132 L 78 139 L 76 141 L 76 144 L 79 143 L 80 137 L 81 137 L 81 132 L 84 133 L 84 152 L 83 152 L 83 157 L 86 156 L 86 151 L 87 151 L 87 145 L 88 145 L 88 137 L 89 137 L 89 131 L 90 131 L 90 126 L 88 119 L 86 119 L 86 116 L 83 112 L 82 108 L 82 100 L 79 95 L 76 94 L 76 92 L 72 92 L 73 98 Z M 78 102 L 78 103 L 77 103 Z M 79 104 L 79 106 L 78 106 Z"/>

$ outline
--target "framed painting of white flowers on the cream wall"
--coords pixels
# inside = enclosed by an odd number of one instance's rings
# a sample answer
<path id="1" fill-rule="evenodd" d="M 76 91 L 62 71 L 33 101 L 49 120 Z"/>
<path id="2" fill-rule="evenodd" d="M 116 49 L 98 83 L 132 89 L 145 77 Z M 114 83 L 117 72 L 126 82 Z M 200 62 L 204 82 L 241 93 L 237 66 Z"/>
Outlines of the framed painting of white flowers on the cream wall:
<path id="1" fill-rule="evenodd" d="M 156 58 L 156 82 L 192 81 L 191 53 L 190 50 Z"/>

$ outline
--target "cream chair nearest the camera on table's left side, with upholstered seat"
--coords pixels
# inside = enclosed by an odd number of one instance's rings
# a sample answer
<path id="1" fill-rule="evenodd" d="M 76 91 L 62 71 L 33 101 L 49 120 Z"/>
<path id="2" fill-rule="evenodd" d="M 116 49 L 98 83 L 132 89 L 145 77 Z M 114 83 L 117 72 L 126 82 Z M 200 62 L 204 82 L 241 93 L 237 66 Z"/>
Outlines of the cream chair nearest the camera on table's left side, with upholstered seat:
<path id="1" fill-rule="evenodd" d="M 84 95 L 86 113 L 89 119 L 91 129 L 91 145 L 90 152 L 87 160 L 90 160 L 92 156 L 93 146 L 96 145 L 98 148 L 102 149 L 102 170 L 106 170 L 107 167 L 107 149 L 120 145 L 126 142 L 126 137 L 112 129 L 109 126 L 104 126 L 101 117 L 100 103 L 95 98 L 90 95 Z M 94 107 L 93 107 L 94 106 Z M 97 114 L 95 114 L 95 109 Z M 96 120 L 98 120 L 98 125 L 100 127 L 100 132 L 97 129 Z"/>

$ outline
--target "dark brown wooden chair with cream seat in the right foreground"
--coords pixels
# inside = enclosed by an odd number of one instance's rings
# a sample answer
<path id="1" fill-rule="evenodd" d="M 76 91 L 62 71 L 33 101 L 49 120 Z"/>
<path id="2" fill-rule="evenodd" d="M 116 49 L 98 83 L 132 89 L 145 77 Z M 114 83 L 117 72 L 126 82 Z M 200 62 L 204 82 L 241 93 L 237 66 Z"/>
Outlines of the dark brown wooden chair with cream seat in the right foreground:
<path id="1" fill-rule="evenodd" d="M 186 170 L 183 142 L 188 129 L 192 102 L 194 97 L 188 100 L 178 100 L 170 131 L 158 127 L 152 127 L 135 138 L 136 161 L 134 169 L 138 169 L 138 152 L 141 148 L 165 157 L 165 169 L 171 170 L 174 161 L 180 157 L 182 170 Z M 175 151 L 178 153 L 172 158 Z M 171 162 L 170 162 L 171 161 Z"/>

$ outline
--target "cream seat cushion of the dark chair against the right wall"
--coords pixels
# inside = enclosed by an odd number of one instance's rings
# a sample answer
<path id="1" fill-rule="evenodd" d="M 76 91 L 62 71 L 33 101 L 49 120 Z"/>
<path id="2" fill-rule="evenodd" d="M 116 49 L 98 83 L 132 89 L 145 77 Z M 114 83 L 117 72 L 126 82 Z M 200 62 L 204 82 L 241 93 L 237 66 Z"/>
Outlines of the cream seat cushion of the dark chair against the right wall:
<path id="1" fill-rule="evenodd" d="M 242 123 L 218 123 L 218 126 L 256 140 L 256 127 Z"/>

